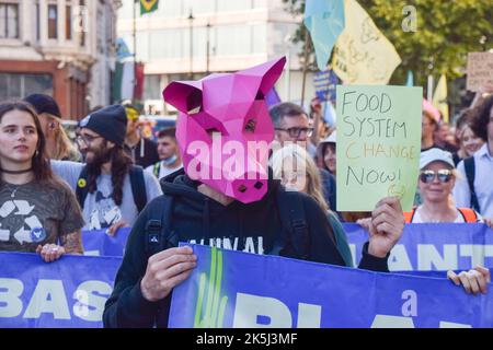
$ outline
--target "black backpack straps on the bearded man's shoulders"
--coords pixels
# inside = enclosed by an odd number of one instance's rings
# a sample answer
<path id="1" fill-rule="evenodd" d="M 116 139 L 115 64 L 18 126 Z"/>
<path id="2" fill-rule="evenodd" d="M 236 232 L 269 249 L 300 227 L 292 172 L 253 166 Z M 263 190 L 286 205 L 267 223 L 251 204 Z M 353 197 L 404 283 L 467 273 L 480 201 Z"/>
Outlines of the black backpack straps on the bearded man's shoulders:
<path id="1" fill-rule="evenodd" d="M 128 173 L 130 176 L 131 194 L 134 196 L 134 202 L 140 213 L 147 203 L 146 183 L 144 179 L 144 168 L 138 165 L 133 165 Z M 80 172 L 79 179 L 77 180 L 76 196 L 79 201 L 80 208 L 84 208 L 85 197 L 88 197 L 88 166 L 85 165 Z"/>

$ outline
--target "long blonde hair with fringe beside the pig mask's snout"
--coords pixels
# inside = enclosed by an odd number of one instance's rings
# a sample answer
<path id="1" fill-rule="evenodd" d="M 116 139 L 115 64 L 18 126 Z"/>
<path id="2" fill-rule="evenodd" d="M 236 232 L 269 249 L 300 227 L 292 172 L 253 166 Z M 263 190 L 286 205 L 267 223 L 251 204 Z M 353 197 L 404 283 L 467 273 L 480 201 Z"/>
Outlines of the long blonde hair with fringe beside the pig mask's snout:
<path id="1" fill-rule="evenodd" d="M 323 211 L 329 211 L 322 194 L 322 180 L 320 178 L 319 168 L 314 161 L 305 150 L 305 148 L 286 142 L 287 144 L 279 150 L 276 150 L 271 159 L 271 166 L 273 168 L 274 177 L 282 179 L 287 184 L 295 175 L 296 184 L 303 184 L 302 188 L 297 186 L 297 190 L 311 196 Z M 290 167 L 290 168 L 289 168 Z M 296 170 L 295 170 L 296 167 Z M 288 171 L 286 171 L 288 168 Z M 289 173 L 291 171 L 291 173 Z M 289 186 L 287 186 L 289 188 Z"/>

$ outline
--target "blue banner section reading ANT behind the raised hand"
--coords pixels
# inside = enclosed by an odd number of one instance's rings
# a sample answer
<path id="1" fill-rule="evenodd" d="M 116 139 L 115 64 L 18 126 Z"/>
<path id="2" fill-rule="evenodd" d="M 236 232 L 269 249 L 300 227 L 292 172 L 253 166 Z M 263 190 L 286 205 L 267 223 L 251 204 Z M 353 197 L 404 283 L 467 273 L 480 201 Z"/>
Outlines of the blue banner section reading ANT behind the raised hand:
<path id="1" fill-rule="evenodd" d="M 368 233 L 358 224 L 343 224 L 354 262 L 362 257 Z M 391 271 L 469 270 L 493 267 L 493 230 L 481 223 L 406 224 L 389 257 Z"/>

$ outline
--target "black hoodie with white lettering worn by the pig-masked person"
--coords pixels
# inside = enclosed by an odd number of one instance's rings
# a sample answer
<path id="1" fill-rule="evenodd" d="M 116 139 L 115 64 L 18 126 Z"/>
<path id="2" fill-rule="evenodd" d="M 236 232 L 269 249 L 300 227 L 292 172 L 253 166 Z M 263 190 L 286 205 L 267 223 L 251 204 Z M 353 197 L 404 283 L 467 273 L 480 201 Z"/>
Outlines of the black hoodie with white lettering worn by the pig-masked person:
<path id="1" fill-rule="evenodd" d="M 170 178 L 173 179 L 170 183 Z M 233 201 L 222 206 L 197 191 L 199 183 L 186 175 L 167 177 L 161 183 L 163 196 L 173 196 L 171 226 L 179 242 L 214 245 L 217 247 L 268 254 L 274 242 L 283 233 L 277 209 L 278 180 L 268 182 L 267 194 L 262 200 L 244 205 Z M 302 198 L 310 236 L 310 260 L 344 266 L 334 243 L 326 214 L 309 196 Z M 125 256 L 115 279 L 115 287 L 103 314 L 105 327 L 167 327 L 171 294 L 160 302 L 148 302 L 140 291 L 140 280 L 146 273 L 145 226 L 152 200 L 137 219 L 127 241 Z M 283 233 L 286 234 L 286 233 Z M 276 241 L 277 242 L 277 241 Z M 367 254 L 365 244 L 359 268 L 388 271 L 387 258 Z M 293 247 L 284 247 L 279 255 L 298 258 Z"/>

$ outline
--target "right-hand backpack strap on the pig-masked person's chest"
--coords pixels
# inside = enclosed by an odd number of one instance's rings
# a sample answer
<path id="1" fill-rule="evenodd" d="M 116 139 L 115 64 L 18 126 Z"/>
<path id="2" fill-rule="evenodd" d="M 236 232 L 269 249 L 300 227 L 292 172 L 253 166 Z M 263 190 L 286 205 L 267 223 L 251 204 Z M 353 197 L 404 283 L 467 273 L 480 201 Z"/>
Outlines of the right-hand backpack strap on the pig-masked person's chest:
<path id="1" fill-rule="evenodd" d="M 301 197 L 297 192 L 285 190 L 282 186 L 277 188 L 276 197 L 283 231 L 289 235 L 285 237 L 282 234 L 279 240 L 274 243 L 271 254 L 279 254 L 287 243 L 299 259 L 306 260 L 309 258 L 310 235 Z"/>

